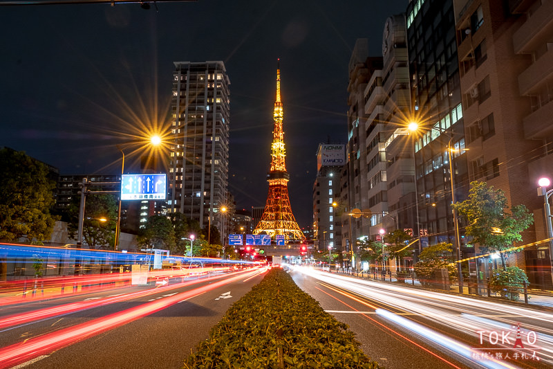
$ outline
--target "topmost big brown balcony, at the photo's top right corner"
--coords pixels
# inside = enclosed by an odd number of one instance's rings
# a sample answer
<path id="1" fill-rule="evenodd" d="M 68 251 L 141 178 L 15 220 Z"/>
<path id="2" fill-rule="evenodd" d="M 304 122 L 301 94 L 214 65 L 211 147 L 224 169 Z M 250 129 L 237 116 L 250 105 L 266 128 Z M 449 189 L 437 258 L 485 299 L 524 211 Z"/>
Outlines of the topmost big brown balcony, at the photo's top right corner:
<path id="1" fill-rule="evenodd" d="M 553 1 L 544 1 L 525 24 L 514 33 L 514 52 L 517 54 L 532 53 L 538 46 L 550 41 L 548 37 L 552 32 Z"/>

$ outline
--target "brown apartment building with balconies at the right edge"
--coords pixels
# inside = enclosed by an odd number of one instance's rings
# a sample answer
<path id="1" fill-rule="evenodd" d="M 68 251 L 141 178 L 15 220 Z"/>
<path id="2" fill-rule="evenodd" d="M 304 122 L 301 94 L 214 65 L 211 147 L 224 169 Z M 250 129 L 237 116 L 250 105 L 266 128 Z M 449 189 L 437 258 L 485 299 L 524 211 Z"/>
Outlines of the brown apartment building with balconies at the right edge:
<path id="1" fill-rule="evenodd" d="M 541 177 L 553 178 L 553 2 L 455 0 L 469 179 L 525 204 L 527 244 L 547 238 Z M 547 243 L 514 253 L 532 285 L 552 287 Z"/>

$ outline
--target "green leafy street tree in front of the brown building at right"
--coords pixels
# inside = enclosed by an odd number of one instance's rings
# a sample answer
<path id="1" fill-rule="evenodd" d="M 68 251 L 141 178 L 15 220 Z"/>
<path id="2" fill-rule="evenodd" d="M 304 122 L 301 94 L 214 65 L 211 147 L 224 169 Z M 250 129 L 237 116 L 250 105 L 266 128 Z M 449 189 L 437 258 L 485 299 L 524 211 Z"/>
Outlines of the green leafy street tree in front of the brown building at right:
<path id="1" fill-rule="evenodd" d="M 526 206 L 520 204 L 507 208 L 503 190 L 488 187 L 480 181 L 471 182 L 469 199 L 453 204 L 453 207 L 467 219 L 466 233 L 473 237 L 482 251 L 500 251 L 503 269 L 505 255 L 501 251 L 521 241 L 521 233 L 534 223 L 534 217 Z"/>

